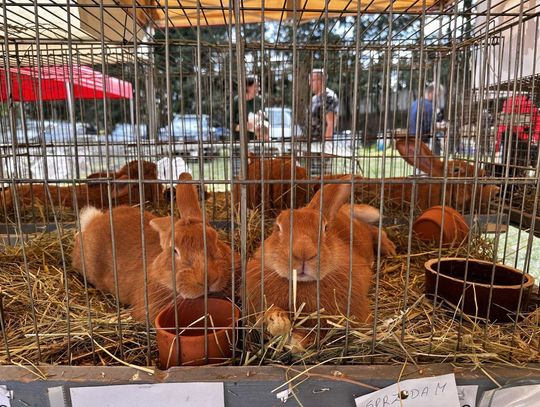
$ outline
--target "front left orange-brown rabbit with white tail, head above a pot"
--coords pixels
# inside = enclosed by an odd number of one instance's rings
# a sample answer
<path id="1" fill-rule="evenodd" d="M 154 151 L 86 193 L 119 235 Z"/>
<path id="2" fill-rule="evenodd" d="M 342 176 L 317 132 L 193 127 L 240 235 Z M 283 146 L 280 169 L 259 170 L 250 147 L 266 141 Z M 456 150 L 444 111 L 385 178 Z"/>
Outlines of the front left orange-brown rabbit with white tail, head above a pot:
<path id="1" fill-rule="evenodd" d="M 191 180 L 183 173 L 180 180 Z M 171 218 L 158 218 L 144 212 L 144 236 L 148 271 L 148 310 L 153 323 L 160 309 L 173 301 L 172 261 L 175 264 L 175 287 L 179 299 L 197 298 L 205 290 L 205 253 L 203 230 L 206 231 L 208 292 L 227 289 L 231 281 L 231 250 L 218 240 L 217 232 L 202 223 L 195 187 L 178 184 L 177 206 L 181 218 L 174 223 L 171 235 Z M 132 315 L 144 320 L 145 285 L 143 276 L 140 209 L 127 206 L 112 209 L 116 245 L 116 270 L 119 301 L 133 307 Z M 109 212 L 84 208 L 80 216 L 81 232 L 75 235 L 72 254 L 73 267 L 86 273 L 88 281 L 96 288 L 115 294 L 113 270 L 112 233 Z M 82 246 L 81 246 L 82 243 Z M 84 268 L 81 251 L 84 248 Z"/>

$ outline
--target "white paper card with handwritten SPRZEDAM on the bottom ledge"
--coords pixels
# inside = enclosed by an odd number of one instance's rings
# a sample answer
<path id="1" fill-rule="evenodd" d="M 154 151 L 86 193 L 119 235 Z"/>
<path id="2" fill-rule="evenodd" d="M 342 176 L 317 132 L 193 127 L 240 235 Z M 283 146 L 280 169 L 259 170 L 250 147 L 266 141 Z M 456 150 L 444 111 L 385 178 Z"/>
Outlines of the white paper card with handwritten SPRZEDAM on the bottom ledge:
<path id="1" fill-rule="evenodd" d="M 410 379 L 355 399 L 356 407 L 458 407 L 453 373 Z"/>

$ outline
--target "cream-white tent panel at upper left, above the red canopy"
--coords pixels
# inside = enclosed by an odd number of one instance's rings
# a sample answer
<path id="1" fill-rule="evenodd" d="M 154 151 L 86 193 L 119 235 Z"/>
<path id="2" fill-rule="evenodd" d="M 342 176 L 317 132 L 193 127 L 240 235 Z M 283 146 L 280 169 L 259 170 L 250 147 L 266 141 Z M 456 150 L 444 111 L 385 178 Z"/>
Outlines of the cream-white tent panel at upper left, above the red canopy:
<path id="1" fill-rule="evenodd" d="M 40 0 L 35 6 L 6 4 L 10 64 L 37 66 L 38 57 L 42 64 L 66 64 L 70 52 L 73 63 L 77 64 L 94 65 L 103 59 L 108 63 L 133 60 L 135 37 L 131 15 L 122 8 L 111 7 L 102 14 L 96 4 L 91 0 L 70 0 L 69 12 L 66 1 Z M 4 22 L 2 7 L 0 21 Z M 135 32 L 137 40 L 144 39 L 142 26 L 137 24 Z M 4 35 L 0 31 L 0 36 Z M 125 45 L 117 45 L 122 42 Z M 0 47 L 5 53 L 3 41 Z M 140 52 L 137 58 L 146 59 L 146 56 Z M 0 63 L 5 64 L 3 58 Z"/>

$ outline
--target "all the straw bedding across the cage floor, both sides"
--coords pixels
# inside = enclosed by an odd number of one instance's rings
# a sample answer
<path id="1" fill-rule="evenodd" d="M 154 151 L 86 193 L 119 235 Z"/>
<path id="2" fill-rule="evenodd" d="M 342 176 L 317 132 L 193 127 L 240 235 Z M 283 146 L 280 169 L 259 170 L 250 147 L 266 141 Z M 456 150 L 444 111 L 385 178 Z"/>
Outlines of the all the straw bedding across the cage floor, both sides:
<path id="1" fill-rule="evenodd" d="M 230 223 L 228 200 L 225 194 L 210 194 L 207 202 L 210 220 L 229 220 Z M 161 211 L 166 214 L 168 209 L 164 206 Z M 62 219 L 69 216 L 73 214 L 62 213 Z M 261 218 L 256 210 L 248 213 L 248 253 L 261 241 Z M 265 217 L 266 234 L 271 230 L 271 223 L 272 220 Z M 259 331 L 246 331 L 245 352 L 235 363 L 540 362 L 540 309 L 531 310 L 517 324 L 488 324 L 463 316 L 460 328 L 459 313 L 447 304 L 434 309 L 433 302 L 424 296 L 423 264 L 438 257 L 438 249 L 413 239 L 407 275 L 408 230 L 392 226 L 387 232 L 396 242 L 399 255 L 381 259 L 377 296 L 374 276 L 372 298 L 377 300 L 379 321 L 375 334 L 372 325 L 356 326 L 351 322 L 350 329 L 346 330 L 344 316 L 324 316 L 334 328 L 321 338 L 318 348 L 314 344 L 298 355 L 291 353 L 283 338 L 262 340 Z M 230 231 L 223 230 L 220 234 L 224 240 L 231 238 Z M 240 230 L 235 227 L 236 245 L 240 241 L 239 234 Z M 85 289 L 83 279 L 70 265 L 72 239 L 73 230 L 65 229 L 35 235 L 24 246 L 5 246 L 0 250 L 4 317 L 0 363 L 154 364 L 154 332 L 150 330 L 147 334 L 145 324 L 133 321 L 129 310 L 122 307 L 117 310 L 112 296 L 91 286 Z M 468 254 L 490 259 L 493 244 L 488 239 L 475 237 Z M 444 249 L 441 253 L 441 256 L 465 255 L 465 246 Z M 32 303 L 35 315 L 31 311 Z M 299 314 L 295 326 L 301 328 L 304 318 L 305 315 Z"/>

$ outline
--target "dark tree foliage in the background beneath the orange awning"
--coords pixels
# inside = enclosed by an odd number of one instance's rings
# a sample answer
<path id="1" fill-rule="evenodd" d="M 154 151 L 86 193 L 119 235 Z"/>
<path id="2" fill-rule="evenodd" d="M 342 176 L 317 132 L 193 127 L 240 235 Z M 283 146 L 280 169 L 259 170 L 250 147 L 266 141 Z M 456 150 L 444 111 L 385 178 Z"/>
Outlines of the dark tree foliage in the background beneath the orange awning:
<path id="1" fill-rule="evenodd" d="M 309 21 L 296 26 L 290 22 L 265 23 L 242 26 L 242 44 L 246 61 L 246 73 L 262 79 L 265 103 L 268 106 L 292 106 L 293 99 L 297 121 L 306 124 L 310 90 L 308 86 L 311 68 L 326 68 L 327 86 L 340 96 L 342 127 L 350 127 L 353 108 L 353 84 L 356 54 L 354 44 L 356 30 L 360 30 L 361 68 L 359 73 L 358 99 L 369 99 L 373 108 L 380 111 L 384 103 L 385 81 L 385 44 L 390 36 L 409 33 L 411 41 L 416 40 L 418 24 L 413 17 L 388 15 L 363 16 L 356 24 L 356 18 L 343 17 Z M 389 31 L 390 23 L 392 32 Z M 160 116 L 163 121 L 167 116 L 166 88 L 170 79 L 170 105 L 172 113 L 197 111 L 197 91 L 202 93 L 202 113 L 212 113 L 213 119 L 220 125 L 228 125 L 230 99 L 237 93 L 236 80 L 239 77 L 236 63 L 236 41 L 229 38 L 228 27 L 200 28 L 200 65 L 197 61 L 197 30 L 195 28 L 170 29 L 168 41 L 164 31 L 156 33 L 155 47 L 156 92 L 159 93 Z M 261 53 L 261 41 L 264 38 L 264 55 Z M 169 47 L 169 59 L 165 59 L 166 43 Z M 293 61 L 293 43 L 297 53 Z M 374 46 L 380 50 L 372 50 Z M 232 49 L 232 54 L 229 52 Z M 232 64 L 230 64 L 232 58 Z M 392 53 L 395 58 L 395 53 Z M 399 58 L 399 56 L 398 56 Z M 402 57 L 402 60 L 405 58 Z M 294 62 L 294 67 L 293 67 Z M 201 81 L 197 82 L 197 69 L 200 67 Z M 232 69 L 229 69 L 231 67 Z M 293 72 L 294 68 L 294 72 Z M 398 78 L 398 87 L 408 87 L 409 78 L 404 74 Z M 369 80 L 368 80 L 369 76 Z M 233 79 L 231 89 L 229 78 Z M 207 97 L 209 94 L 211 98 Z"/>

